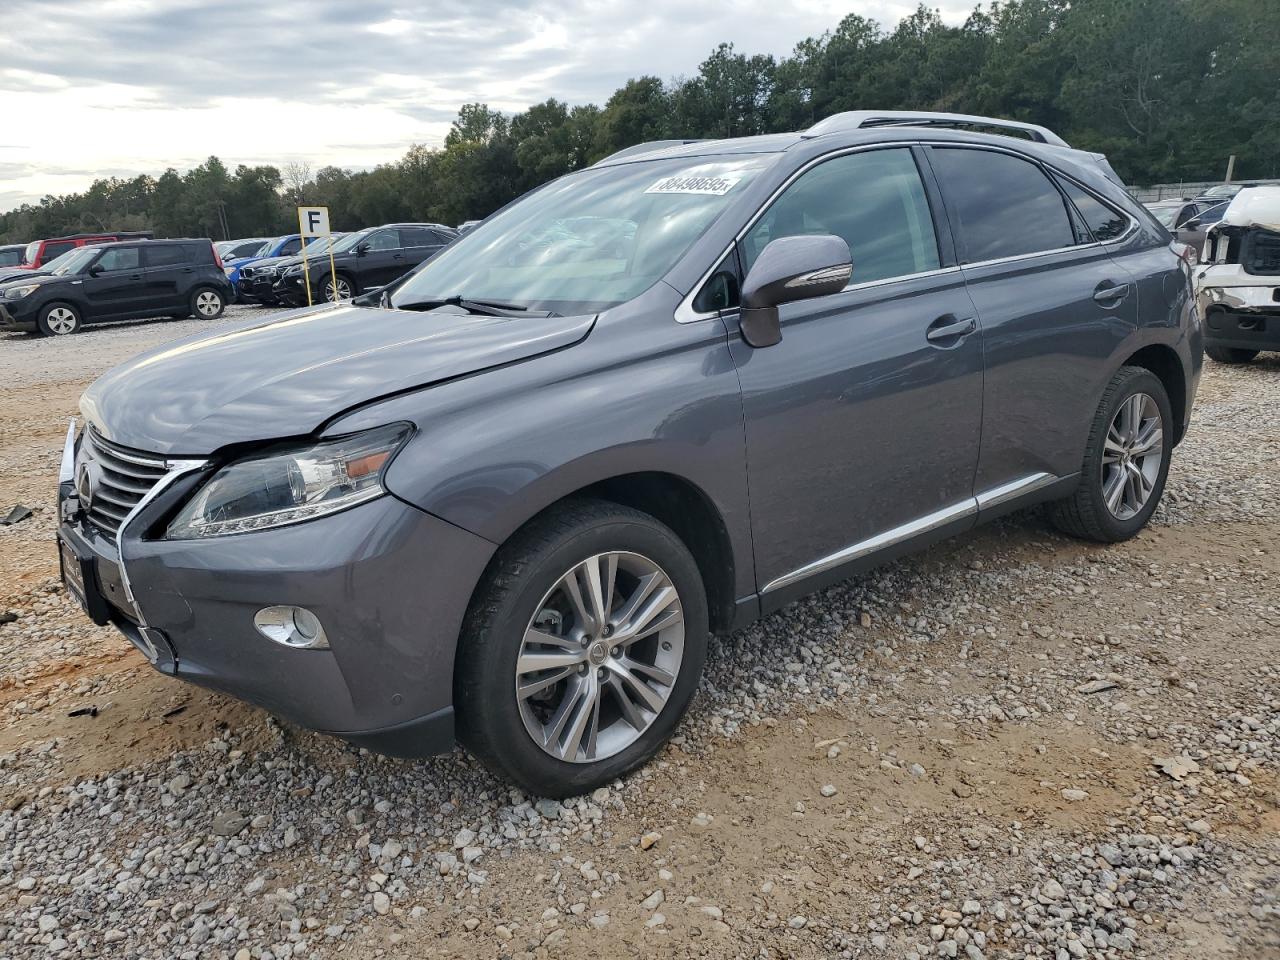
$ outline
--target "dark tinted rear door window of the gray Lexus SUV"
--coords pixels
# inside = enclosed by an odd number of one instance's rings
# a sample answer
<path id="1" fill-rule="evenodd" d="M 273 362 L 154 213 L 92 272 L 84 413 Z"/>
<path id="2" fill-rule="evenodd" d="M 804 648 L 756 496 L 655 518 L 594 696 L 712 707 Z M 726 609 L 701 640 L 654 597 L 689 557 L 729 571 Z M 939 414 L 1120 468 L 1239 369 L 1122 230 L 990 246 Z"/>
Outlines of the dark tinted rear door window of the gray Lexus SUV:
<path id="1" fill-rule="evenodd" d="M 1075 244 L 1062 195 L 1036 164 L 991 150 L 950 147 L 936 147 L 931 159 L 959 216 L 955 227 L 965 262 Z"/>

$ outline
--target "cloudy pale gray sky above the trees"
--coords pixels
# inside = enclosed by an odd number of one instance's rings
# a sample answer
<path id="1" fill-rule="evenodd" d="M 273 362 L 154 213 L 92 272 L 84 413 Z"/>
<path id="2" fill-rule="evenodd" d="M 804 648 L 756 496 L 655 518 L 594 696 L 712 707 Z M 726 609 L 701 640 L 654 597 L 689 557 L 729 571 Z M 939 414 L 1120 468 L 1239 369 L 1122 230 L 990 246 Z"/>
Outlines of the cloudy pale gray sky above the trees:
<path id="1" fill-rule="evenodd" d="M 948 22 L 968 0 L 933 0 Z M 915 0 L 6 0 L 0 210 L 95 177 L 229 164 L 372 166 L 439 145 L 460 105 L 603 102 L 722 42 L 786 55 Z"/>

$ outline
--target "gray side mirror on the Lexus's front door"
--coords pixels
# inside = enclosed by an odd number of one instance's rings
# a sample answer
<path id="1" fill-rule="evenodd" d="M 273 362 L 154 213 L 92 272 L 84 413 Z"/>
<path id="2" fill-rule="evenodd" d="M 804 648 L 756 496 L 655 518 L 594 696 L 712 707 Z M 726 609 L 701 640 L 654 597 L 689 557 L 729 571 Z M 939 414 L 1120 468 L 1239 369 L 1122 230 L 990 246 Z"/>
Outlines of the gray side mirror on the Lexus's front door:
<path id="1" fill-rule="evenodd" d="M 826 233 L 769 242 L 742 282 L 742 339 L 753 347 L 772 347 L 782 339 L 780 305 L 840 293 L 852 274 L 849 244 L 840 237 Z"/>

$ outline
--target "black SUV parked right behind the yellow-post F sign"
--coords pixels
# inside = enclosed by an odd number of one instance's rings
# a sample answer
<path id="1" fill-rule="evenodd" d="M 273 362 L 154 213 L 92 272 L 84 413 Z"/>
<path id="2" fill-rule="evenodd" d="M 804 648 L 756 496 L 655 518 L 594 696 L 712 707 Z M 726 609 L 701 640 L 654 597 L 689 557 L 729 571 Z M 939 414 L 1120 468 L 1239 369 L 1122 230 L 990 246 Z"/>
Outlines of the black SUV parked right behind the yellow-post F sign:
<path id="1" fill-rule="evenodd" d="M 294 306 L 307 302 L 306 279 L 311 279 L 314 301 L 351 300 L 376 287 L 398 280 L 411 269 L 430 260 L 457 239 L 458 232 L 436 223 L 392 223 L 348 233 L 333 243 L 330 276 L 329 247 L 317 243 L 315 253 L 276 265 L 273 293 Z"/>

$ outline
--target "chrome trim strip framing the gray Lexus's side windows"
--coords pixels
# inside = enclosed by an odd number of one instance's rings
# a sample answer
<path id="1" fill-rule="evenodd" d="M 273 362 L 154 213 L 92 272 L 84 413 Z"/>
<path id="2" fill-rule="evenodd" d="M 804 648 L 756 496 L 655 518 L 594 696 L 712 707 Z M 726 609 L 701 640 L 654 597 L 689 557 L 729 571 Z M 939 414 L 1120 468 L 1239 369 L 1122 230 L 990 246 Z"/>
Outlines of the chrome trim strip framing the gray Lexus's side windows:
<path id="1" fill-rule="evenodd" d="M 835 159 L 837 156 L 845 156 L 846 154 L 859 154 L 859 152 L 863 152 L 863 151 L 867 151 L 867 150 L 886 150 L 886 148 L 895 148 L 895 147 L 909 147 L 910 148 L 913 146 L 920 146 L 920 147 L 957 147 L 957 148 L 961 148 L 961 150 L 987 150 L 987 151 L 992 151 L 992 152 L 997 152 L 997 154 L 1009 154 L 1010 156 L 1016 156 L 1020 160 L 1027 160 L 1028 163 L 1036 164 L 1037 166 L 1048 166 L 1048 169 L 1051 169 L 1055 174 L 1057 174 L 1059 177 L 1062 177 L 1066 180 L 1070 180 L 1076 187 L 1079 187 L 1080 189 L 1083 189 L 1085 193 L 1088 193 L 1092 197 L 1094 197 L 1094 200 L 1097 200 L 1100 204 L 1105 204 L 1106 206 L 1115 209 L 1114 204 L 1111 204 L 1110 201 L 1105 200 L 1103 197 L 1100 197 L 1097 193 L 1094 193 L 1092 189 L 1089 189 L 1088 187 L 1085 187 L 1083 183 L 1080 183 L 1079 180 L 1076 180 L 1070 174 L 1064 173 L 1062 170 L 1059 170 L 1056 166 L 1051 166 L 1051 165 L 1043 163 L 1039 157 L 1029 156 L 1027 154 L 1023 154 L 1023 152 L 1020 152 L 1018 150 L 1012 150 L 1012 148 L 1005 147 L 1002 145 L 989 145 L 989 143 L 966 145 L 966 143 L 955 143 L 955 142 L 951 142 L 951 141 L 940 141 L 940 140 L 910 140 L 910 141 L 888 141 L 888 142 L 881 142 L 881 143 L 863 143 L 863 145 L 854 146 L 854 147 L 841 147 L 840 150 L 833 150 L 829 154 L 822 154 L 820 156 L 815 156 L 813 160 L 810 160 L 809 163 L 806 163 L 804 166 L 801 166 L 797 170 L 795 170 L 795 173 L 792 173 L 786 180 L 783 180 L 782 184 L 777 189 L 774 189 L 768 196 L 768 198 L 765 198 L 764 204 L 760 205 L 760 207 L 755 211 L 755 214 L 753 214 L 751 219 L 746 223 L 746 227 L 744 227 L 741 230 L 737 232 L 737 234 L 733 237 L 733 239 L 730 242 L 730 244 L 724 248 L 724 251 L 718 257 L 716 257 L 716 260 L 712 262 L 712 265 L 707 269 L 707 273 L 704 273 L 699 278 L 698 283 L 694 284 L 692 289 L 685 296 L 685 298 L 682 301 L 680 301 L 680 305 L 676 307 L 676 323 L 678 323 L 678 324 L 692 324 L 692 323 L 698 323 L 699 320 L 710 320 L 712 317 L 716 317 L 716 316 L 732 315 L 732 314 L 737 312 L 737 307 L 726 307 L 724 310 L 712 310 L 709 312 L 699 312 L 699 311 L 694 310 L 694 300 L 701 292 L 703 285 L 712 278 L 712 274 L 716 273 L 716 268 L 719 266 L 723 262 L 724 257 L 727 257 L 730 255 L 730 252 L 733 250 L 733 247 L 750 232 L 750 229 L 753 227 L 755 227 L 756 221 L 764 215 L 764 212 L 769 209 L 769 206 L 773 204 L 773 201 L 777 200 L 778 196 L 781 196 L 782 192 L 787 187 L 790 187 L 804 173 L 806 173 L 808 170 L 810 170 L 812 168 L 817 166 L 820 163 L 824 163 L 827 160 L 832 160 L 832 159 Z M 1092 243 L 1073 243 L 1069 247 L 1055 247 L 1052 250 L 1038 250 L 1038 251 L 1036 251 L 1033 253 L 1018 253 L 1015 256 L 997 257 L 995 260 L 975 260 L 972 264 L 956 264 L 955 266 L 943 266 L 943 268 L 940 268 L 938 270 L 927 270 L 924 273 L 908 274 L 905 276 L 886 276 L 886 278 L 882 278 L 879 280 L 867 280 L 865 283 L 851 283 L 847 287 L 845 287 L 845 289 L 841 291 L 841 293 L 844 293 L 845 291 L 860 289 L 863 287 L 876 287 L 876 285 L 882 285 L 882 284 L 886 284 L 886 283 L 896 283 L 899 280 L 915 280 L 915 279 L 919 279 L 922 276 L 933 276 L 933 275 L 938 275 L 938 274 L 947 274 L 947 273 L 952 273 L 952 271 L 956 271 L 956 270 L 963 270 L 965 268 L 979 268 L 979 266 L 996 266 L 996 265 L 1001 265 L 1001 264 L 1015 264 L 1015 262 L 1019 262 L 1021 260 L 1036 260 L 1038 257 L 1052 256 L 1053 253 L 1064 253 L 1064 252 L 1066 252 L 1069 250 L 1089 250 L 1091 247 L 1110 247 L 1110 246 L 1114 246 L 1116 243 L 1124 243 L 1125 241 L 1128 241 L 1138 230 L 1138 221 L 1128 211 L 1125 211 L 1125 210 L 1116 210 L 1116 212 L 1119 212 L 1120 215 L 1123 215 L 1129 221 L 1129 227 L 1128 227 L 1128 229 L 1125 229 L 1124 233 L 1121 233 L 1115 239 L 1093 241 Z M 1085 224 L 1085 225 L 1088 225 L 1088 224 Z M 835 294 L 832 294 L 832 296 L 835 296 Z"/>

